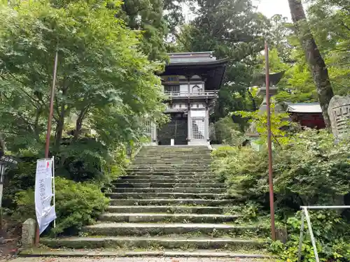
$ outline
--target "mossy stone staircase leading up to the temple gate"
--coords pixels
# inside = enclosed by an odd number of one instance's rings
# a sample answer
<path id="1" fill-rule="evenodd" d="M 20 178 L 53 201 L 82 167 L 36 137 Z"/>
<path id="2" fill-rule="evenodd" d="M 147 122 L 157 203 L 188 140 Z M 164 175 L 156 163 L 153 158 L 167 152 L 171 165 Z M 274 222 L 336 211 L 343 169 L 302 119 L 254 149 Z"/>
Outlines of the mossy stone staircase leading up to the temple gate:
<path id="1" fill-rule="evenodd" d="M 118 249 L 110 251 L 115 255 L 142 256 L 151 250 L 163 255 L 262 257 L 268 228 L 235 224 L 235 200 L 210 172 L 210 162 L 207 147 L 144 147 L 127 176 L 107 194 L 111 205 L 97 224 L 85 226 L 81 237 L 43 238 L 41 243 L 99 252 Z"/>

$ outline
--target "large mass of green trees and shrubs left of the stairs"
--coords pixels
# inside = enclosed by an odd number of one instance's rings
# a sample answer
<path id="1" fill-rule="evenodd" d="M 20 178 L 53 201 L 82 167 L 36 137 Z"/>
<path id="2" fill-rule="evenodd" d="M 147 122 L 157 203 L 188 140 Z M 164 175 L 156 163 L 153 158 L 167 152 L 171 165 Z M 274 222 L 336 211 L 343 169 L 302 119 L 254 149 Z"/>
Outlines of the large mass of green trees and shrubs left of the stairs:
<path id="1" fill-rule="evenodd" d="M 148 8 L 147 3 L 142 5 Z M 130 29 L 123 16 L 126 4 L 97 0 L 0 4 L 1 146 L 6 144 L 21 159 L 18 169 L 6 173 L 3 203 L 15 217 L 25 210 L 32 216 L 34 208 L 31 190 L 36 159 L 43 157 L 56 51 L 50 155 L 55 156 L 57 176 L 69 179 L 57 178 L 56 233 L 90 223 L 104 210 L 101 189 L 123 174 L 127 147 L 144 139 L 144 120 L 164 118 L 162 86 L 155 75 L 162 64 L 148 60 L 164 47 L 156 53 L 152 45 L 152 51 L 144 54 L 140 50 L 146 49 L 148 33 L 134 30 L 148 27 L 146 20 L 159 19 L 145 10 L 142 27 Z M 159 5 L 151 8 L 161 9 Z M 158 9 L 155 13 L 161 16 Z M 162 42 L 162 37 L 150 38 Z"/>

